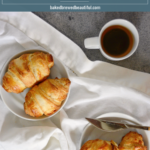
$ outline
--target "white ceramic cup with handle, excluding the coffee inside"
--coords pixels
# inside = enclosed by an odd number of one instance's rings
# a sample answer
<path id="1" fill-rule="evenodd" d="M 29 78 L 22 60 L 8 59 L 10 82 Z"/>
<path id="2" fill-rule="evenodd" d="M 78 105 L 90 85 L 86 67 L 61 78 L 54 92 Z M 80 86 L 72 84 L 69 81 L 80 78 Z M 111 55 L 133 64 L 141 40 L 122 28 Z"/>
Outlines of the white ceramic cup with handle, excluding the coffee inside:
<path id="1" fill-rule="evenodd" d="M 108 27 L 113 26 L 113 25 L 120 25 L 120 26 L 127 28 L 132 33 L 132 36 L 133 36 L 132 49 L 127 55 L 125 55 L 123 57 L 117 58 L 117 57 L 112 57 L 112 56 L 106 54 L 105 51 L 103 50 L 101 42 L 100 42 L 102 33 L 105 31 L 105 29 L 107 29 Z M 139 34 L 138 34 L 136 27 L 131 22 L 124 20 L 124 19 L 115 19 L 115 20 L 109 21 L 101 29 L 101 31 L 99 33 L 99 37 L 91 37 L 91 38 L 87 38 L 84 40 L 85 48 L 100 49 L 100 52 L 102 53 L 102 55 L 105 58 L 107 58 L 109 60 L 113 60 L 113 61 L 120 61 L 120 60 L 124 60 L 124 59 L 130 57 L 136 51 L 138 44 L 139 44 Z"/>

